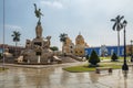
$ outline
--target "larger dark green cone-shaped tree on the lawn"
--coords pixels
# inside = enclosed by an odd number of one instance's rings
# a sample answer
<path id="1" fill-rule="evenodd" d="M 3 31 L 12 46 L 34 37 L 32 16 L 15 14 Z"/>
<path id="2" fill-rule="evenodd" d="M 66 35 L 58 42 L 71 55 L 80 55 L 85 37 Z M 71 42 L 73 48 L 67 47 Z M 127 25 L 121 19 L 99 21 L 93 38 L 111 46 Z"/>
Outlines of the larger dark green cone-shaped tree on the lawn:
<path id="1" fill-rule="evenodd" d="M 94 50 L 91 53 L 91 56 L 89 58 L 89 63 L 91 63 L 91 66 L 98 66 L 98 63 L 100 63 L 100 58 Z"/>

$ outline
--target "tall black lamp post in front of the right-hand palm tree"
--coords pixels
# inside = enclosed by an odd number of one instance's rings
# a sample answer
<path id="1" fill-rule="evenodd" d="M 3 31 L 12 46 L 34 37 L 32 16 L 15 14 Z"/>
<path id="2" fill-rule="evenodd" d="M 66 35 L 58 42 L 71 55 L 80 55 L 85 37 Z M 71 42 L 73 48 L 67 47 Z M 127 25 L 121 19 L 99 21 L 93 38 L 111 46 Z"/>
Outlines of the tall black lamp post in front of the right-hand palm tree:
<path id="1" fill-rule="evenodd" d="M 123 66 L 122 66 L 122 70 L 124 72 L 124 75 L 126 76 L 127 70 L 129 70 L 129 66 L 126 64 L 126 41 L 125 41 L 125 26 L 126 26 L 127 22 L 124 20 L 123 21 L 123 28 L 124 28 L 124 62 L 123 62 Z"/>

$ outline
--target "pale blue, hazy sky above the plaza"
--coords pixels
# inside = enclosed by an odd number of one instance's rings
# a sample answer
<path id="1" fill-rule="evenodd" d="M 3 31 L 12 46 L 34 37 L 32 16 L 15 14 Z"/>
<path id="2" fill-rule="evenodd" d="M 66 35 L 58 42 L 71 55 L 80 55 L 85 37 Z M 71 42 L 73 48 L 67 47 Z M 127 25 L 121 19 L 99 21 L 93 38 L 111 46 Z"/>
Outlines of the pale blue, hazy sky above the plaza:
<path id="1" fill-rule="evenodd" d="M 133 40 L 133 0 L 4 0 L 4 43 L 14 45 L 12 32 L 21 33 L 20 46 L 35 37 L 38 19 L 34 6 L 41 9 L 43 37 L 51 35 L 51 46 L 61 48 L 60 34 L 66 33 L 75 43 L 81 33 L 89 46 L 117 45 L 117 32 L 111 19 L 124 15 L 126 44 Z M 123 30 L 120 32 L 123 45 Z M 3 43 L 3 0 L 0 0 L 0 44 Z"/>

